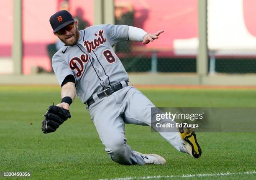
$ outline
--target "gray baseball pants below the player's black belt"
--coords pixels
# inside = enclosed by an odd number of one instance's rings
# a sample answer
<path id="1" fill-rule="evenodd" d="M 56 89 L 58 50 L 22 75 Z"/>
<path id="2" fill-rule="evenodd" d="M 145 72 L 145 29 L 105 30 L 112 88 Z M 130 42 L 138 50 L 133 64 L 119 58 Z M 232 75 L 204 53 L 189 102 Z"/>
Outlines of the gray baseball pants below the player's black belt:
<path id="1" fill-rule="evenodd" d="M 91 104 L 89 112 L 111 159 L 121 165 L 145 165 L 142 157 L 134 155 L 127 144 L 124 127 L 125 124 L 151 125 L 151 107 L 155 107 L 154 104 L 133 86 L 124 87 L 102 99 L 94 94 L 93 99 L 95 103 Z M 183 150 L 178 132 L 160 134 L 178 151 Z"/>

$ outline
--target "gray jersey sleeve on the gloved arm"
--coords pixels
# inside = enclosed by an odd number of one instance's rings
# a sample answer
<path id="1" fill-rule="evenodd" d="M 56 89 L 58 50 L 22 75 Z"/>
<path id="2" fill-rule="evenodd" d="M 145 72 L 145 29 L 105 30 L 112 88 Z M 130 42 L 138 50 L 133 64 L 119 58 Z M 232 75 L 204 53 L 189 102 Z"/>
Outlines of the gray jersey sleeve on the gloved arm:
<path id="1" fill-rule="evenodd" d="M 62 85 L 62 82 L 68 75 L 74 76 L 67 62 L 64 61 L 64 59 L 62 59 L 59 55 L 53 56 L 52 68 L 60 85 Z"/>

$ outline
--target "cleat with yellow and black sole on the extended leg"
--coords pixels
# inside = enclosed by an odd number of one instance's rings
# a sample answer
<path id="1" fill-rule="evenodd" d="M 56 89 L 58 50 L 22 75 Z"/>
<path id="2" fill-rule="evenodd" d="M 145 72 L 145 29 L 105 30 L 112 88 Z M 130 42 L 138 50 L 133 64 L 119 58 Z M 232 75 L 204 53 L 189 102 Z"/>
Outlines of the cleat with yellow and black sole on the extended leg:
<path id="1" fill-rule="evenodd" d="M 193 128 L 179 128 L 179 135 L 182 140 L 182 147 L 184 150 L 195 158 L 199 158 L 202 150 L 197 142 L 197 137 Z"/>

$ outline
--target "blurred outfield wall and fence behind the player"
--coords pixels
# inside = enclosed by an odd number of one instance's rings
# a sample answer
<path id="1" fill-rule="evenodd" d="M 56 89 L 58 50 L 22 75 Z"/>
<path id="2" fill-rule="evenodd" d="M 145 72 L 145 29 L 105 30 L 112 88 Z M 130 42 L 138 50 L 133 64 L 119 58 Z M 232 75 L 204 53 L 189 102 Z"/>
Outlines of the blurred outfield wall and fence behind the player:
<path id="1" fill-rule="evenodd" d="M 57 83 L 51 57 L 63 45 L 49 17 L 66 9 L 81 29 L 111 23 L 164 30 L 146 46 L 115 46 L 135 84 L 256 85 L 253 7 L 255 0 L 0 0 L 0 84 Z"/>

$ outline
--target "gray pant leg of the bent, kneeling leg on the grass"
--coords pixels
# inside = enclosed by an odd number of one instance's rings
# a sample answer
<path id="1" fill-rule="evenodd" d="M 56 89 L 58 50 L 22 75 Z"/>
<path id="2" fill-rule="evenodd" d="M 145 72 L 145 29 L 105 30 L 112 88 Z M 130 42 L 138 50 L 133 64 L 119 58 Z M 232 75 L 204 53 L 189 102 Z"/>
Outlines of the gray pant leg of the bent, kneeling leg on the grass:
<path id="1" fill-rule="evenodd" d="M 122 165 L 145 165 L 144 160 L 134 155 L 127 144 L 122 110 L 117 106 L 114 96 L 95 102 L 89 107 L 89 112 L 105 151 L 113 161 Z"/>

